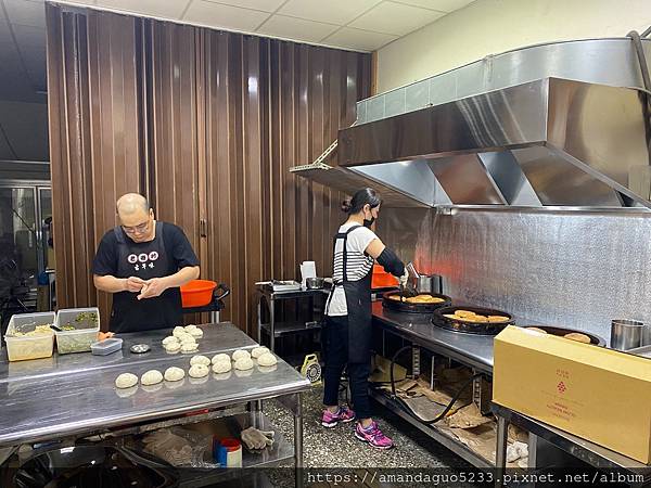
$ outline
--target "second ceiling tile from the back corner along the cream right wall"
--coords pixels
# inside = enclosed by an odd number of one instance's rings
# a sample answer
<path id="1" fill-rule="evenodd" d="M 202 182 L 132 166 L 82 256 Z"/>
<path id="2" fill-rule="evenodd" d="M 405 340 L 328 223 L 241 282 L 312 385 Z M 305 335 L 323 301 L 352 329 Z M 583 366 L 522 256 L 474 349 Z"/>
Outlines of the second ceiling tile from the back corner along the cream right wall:
<path id="1" fill-rule="evenodd" d="M 350 23 L 357 27 L 375 33 L 405 36 L 445 15 L 442 12 L 420 9 L 395 2 L 382 2 Z"/>

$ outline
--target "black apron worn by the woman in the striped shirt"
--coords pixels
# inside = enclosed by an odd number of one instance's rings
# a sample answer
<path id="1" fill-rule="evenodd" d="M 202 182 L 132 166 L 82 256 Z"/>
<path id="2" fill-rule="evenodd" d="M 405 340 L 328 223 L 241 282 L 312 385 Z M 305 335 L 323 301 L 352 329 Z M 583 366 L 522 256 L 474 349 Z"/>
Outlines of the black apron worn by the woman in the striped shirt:
<path id="1" fill-rule="evenodd" d="M 358 281 L 348 281 L 346 270 L 348 262 L 348 234 L 362 226 L 353 226 L 346 232 L 340 232 L 334 236 L 334 248 L 336 251 L 336 241 L 342 239 L 343 260 L 341 282 L 333 283 L 326 310 L 330 307 L 330 300 L 336 286 L 343 286 L 346 295 L 346 309 L 348 310 L 348 362 L 368 362 L 371 358 L 371 280 L 373 277 L 372 268 Z"/>

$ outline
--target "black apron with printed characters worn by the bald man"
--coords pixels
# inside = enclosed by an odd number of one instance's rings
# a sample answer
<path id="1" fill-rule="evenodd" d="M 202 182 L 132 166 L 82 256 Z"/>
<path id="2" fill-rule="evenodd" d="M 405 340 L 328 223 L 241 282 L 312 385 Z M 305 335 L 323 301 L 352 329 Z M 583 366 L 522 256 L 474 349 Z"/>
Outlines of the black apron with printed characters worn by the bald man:
<path id="1" fill-rule="evenodd" d="M 135 243 L 120 227 L 113 229 L 117 239 L 116 278 L 138 277 L 142 280 L 163 278 L 177 272 L 170 269 L 170 260 L 163 237 L 164 223 L 156 221 L 153 241 Z M 138 293 L 119 292 L 113 295 L 110 330 L 112 332 L 138 332 L 169 329 L 182 322 L 181 293 L 178 287 L 168 288 L 161 296 L 139 300 Z"/>

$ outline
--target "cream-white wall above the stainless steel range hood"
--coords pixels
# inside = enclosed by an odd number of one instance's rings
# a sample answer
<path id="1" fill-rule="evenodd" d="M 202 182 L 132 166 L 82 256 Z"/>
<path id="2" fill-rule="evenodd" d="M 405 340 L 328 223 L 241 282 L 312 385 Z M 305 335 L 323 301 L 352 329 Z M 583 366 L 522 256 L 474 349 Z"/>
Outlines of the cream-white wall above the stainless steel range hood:
<path id="1" fill-rule="evenodd" d="M 651 0 L 476 0 L 378 51 L 378 93 L 487 54 L 650 25 Z"/>

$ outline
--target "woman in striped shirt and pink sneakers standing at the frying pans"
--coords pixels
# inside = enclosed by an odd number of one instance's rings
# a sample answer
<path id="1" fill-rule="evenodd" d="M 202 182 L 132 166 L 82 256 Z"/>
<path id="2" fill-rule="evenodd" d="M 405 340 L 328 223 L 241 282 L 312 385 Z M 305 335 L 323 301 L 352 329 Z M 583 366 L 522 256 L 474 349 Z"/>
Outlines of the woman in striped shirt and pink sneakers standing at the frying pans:
<path id="1" fill-rule="evenodd" d="M 371 418 L 368 377 L 371 369 L 371 277 L 376 259 L 398 277 L 401 284 L 408 273 L 395 253 L 370 229 L 380 213 L 380 196 L 374 190 L 359 190 L 342 209 L 348 219 L 334 236 L 333 287 L 326 304 L 323 328 L 324 427 L 357 418 L 355 436 L 378 449 L 390 449 L 393 440 L 382 434 Z M 339 387 L 346 368 L 353 404 L 357 413 L 339 404 Z"/>

